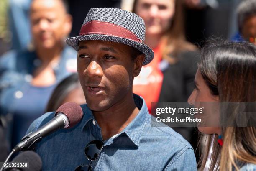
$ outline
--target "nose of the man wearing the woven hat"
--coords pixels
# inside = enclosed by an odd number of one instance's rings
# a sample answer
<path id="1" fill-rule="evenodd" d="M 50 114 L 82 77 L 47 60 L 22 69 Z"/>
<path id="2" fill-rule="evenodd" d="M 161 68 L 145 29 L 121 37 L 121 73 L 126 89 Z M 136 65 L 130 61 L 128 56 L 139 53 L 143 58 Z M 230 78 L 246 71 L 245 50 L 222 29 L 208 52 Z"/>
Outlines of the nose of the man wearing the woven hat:
<path id="1" fill-rule="evenodd" d="M 87 66 L 87 69 L 84 70 L 84 74 L 88 77 L 102 77 L 103 70 L 100 64 L 98 64 L 96 61 L 91 61 Z"/>

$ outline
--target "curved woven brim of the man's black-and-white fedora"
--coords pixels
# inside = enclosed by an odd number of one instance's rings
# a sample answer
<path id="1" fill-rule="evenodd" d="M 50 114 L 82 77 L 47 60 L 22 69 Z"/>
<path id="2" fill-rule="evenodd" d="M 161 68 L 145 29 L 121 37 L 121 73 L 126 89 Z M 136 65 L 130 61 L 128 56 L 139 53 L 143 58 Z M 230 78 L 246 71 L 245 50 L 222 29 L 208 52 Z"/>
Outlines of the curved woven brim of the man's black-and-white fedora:
<path id="1" fill-rule="evenodd" d="M 90 35 L 84 35 L 84 36 L 77 36 L 68 38 L 66 40 L 66 43 L 74 48 L 76 51 L 78 51 L 78 42 L 79 41 L 90 41 L 90 40 L 98 40 L 98 41 L 113 41 L 116 43 L 123 43 L 128 46 L 132 46 L 139 51 L 141 51 L 143 54 L 145 54 L 145 61 L 143 62 L 143 65 L 146 65 L 152 61 L 154 58 L 154 52 L 153 50 L 146 46 L 143 43 L 139 43 L 137 41 L 133 41 L 126 38 L 116 37 L 116 36 L 109 36 L 109 35 L 102 35 L 102 34 L 90 34 Z"/>

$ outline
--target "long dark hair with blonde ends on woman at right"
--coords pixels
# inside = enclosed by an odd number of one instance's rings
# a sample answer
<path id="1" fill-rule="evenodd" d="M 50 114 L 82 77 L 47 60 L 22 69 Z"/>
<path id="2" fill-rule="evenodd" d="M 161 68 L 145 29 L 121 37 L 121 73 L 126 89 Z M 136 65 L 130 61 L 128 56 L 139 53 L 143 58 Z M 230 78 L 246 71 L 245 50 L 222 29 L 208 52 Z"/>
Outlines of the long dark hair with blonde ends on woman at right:
<path id="1" fill-rule="evenodd" d="M 256 102 L 254 44 L 213 39 L 202 48 L 198 69 L 212 95 L 218 95 L 220 102 Z M 217 143 L 218 135 L 207 135 L 208 142 L 199 163 L 201 169 L 205 167 L 211 147 L 209 171 L 216 166 L 220 171 L 231 171 L 239 170 L 238 163 L 256 164 L 256 127 L 223 126 L 222 132 L 222 148 Z"/>

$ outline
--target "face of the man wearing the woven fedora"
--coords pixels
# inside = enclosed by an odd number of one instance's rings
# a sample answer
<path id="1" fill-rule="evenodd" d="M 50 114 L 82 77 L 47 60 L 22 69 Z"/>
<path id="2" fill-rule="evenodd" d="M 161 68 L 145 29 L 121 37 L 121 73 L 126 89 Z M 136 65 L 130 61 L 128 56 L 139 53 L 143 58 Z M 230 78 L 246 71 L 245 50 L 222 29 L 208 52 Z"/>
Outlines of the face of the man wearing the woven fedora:
<path id="1" fill-rule="evenodd" d="M 133 77 L 143 63 L 141 58 L 131 59 L 131 50 L 110 41 L 79 42 L 77 70 L 91 110 L 105 111 L 131 96 Z"/>

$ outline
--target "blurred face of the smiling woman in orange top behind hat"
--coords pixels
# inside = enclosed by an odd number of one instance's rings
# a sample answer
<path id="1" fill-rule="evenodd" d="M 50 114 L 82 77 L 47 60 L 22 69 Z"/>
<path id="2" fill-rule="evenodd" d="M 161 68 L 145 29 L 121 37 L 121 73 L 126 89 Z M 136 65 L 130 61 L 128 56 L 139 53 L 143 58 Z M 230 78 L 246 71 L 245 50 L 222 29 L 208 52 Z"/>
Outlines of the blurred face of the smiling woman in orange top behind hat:
<path id="1" fill-rule="evenodd" d="M 138 0 L 134 11 L 144 20 L 147 36 L 161 36 L 171 25 L 175 0 Z"/>

